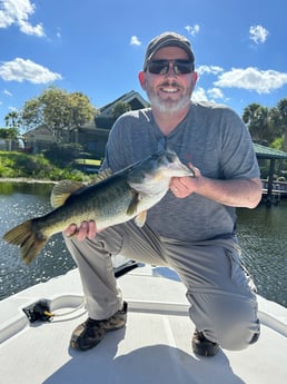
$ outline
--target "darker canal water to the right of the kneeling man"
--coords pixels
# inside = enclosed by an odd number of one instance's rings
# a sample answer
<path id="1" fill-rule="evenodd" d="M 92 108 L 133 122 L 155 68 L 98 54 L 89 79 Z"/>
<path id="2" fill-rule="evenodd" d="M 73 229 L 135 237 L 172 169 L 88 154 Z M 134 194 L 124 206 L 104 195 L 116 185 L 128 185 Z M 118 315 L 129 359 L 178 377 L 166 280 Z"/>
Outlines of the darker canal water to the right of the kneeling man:
<path id="1" fill-rule="evenodd" d="M 238 209 L 238 238 L 258 293 L 287 307 L 287 199 Z"/>

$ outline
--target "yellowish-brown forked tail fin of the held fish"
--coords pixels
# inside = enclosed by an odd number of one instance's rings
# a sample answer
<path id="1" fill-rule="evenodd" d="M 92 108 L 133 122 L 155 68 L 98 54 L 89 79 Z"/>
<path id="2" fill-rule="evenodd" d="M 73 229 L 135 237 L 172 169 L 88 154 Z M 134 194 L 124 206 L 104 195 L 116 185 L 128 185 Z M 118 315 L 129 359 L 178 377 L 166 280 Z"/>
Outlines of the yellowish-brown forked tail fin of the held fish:
<path id="1" fill-rule="evenodd" d="M 33 220 L 28 220 L 8 230 L 3 239 L 19 246 L 23 263 L 30 264 L 42 249 L 48 237 L 41 230 L 33 228 Z"/>

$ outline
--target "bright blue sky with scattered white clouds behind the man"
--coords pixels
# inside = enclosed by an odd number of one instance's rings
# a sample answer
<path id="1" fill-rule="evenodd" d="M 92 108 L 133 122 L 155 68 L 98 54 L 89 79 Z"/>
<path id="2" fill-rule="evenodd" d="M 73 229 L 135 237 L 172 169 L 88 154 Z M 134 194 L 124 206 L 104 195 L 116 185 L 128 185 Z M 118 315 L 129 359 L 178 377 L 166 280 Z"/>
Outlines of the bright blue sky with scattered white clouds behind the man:
<path id="1" fill-rule="evenodd" d="M 287 97 L 286 0 L 0 0 L 0 127 L 50 85 L 81 91 L 96 108 L 138 83 L 155 36 L 190 39 L 196 100 L 241 115 Z"/>

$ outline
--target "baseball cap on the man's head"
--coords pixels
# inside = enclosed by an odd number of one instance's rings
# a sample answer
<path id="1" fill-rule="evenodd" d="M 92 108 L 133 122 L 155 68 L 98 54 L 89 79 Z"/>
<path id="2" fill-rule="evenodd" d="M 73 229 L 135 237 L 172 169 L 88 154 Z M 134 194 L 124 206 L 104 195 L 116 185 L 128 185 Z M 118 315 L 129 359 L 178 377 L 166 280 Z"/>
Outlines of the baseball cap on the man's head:
<path id="1" fill-rule="evenodd" d="M 176 32 L 164 32 L 149 42 L 145 57 L 144 70 L 147 69 L 147 63 L 152 58 L 152 56 L 164 47 L 181 48 L 187 52 L 190 61 L 195 62 L 195 55 L 192 52 L 190 41 L 187 38 Z"/>

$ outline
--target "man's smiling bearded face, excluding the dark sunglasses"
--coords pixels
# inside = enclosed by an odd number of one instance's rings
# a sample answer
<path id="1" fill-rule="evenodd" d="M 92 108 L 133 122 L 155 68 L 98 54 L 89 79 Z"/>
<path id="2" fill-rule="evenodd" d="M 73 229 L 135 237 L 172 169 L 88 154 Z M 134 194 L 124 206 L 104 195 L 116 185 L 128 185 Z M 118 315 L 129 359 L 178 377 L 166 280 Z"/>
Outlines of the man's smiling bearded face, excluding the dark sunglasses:
<path id="1" fill-rule="evenodd" d="M 147 71 L 139 73 L 140 85 L 146 90 L 152 108 L 171 114 L 189 106 L 197 72 L 176 73 L 177 70 L 172 68 L 172 60 L 188 60 L 187 52 L 178 47 L 165 47 L 152 56 L 151 61 L 154 60 L 171 62 L 164 73 L 150 73 L 149 67 Z"/>

